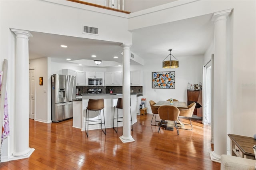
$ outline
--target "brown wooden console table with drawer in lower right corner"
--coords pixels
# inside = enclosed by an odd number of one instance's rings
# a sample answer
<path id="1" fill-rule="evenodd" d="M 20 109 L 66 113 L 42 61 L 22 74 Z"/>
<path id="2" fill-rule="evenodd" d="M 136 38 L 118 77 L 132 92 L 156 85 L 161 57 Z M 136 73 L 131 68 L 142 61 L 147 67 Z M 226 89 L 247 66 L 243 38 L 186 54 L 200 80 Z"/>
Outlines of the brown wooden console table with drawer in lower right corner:
<path id="1" fill-rule="evenodd" d="M 248 136 L 228 134 L 231 139 L 231 155 L 242 158 L 254 159 L 253 146 L 256 140 Z"/>

